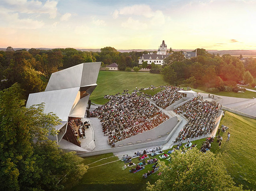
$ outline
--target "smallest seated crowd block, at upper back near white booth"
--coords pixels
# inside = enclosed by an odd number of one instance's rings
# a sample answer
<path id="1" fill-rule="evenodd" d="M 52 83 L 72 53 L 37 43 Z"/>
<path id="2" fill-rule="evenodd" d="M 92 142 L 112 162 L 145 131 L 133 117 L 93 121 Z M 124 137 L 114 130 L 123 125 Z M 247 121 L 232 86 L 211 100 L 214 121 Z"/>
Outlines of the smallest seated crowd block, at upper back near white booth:
<path id="1" fill-rule="evenodd" d="M 155 101 L 157 106 L 165 109 L 175 101 L 181 99 L 182 94 L 178 92 L 181 90 L 180 88 L 174 86 L 165 86 L 164 88 L 164 90 L 155 94 L 151 99 Z"/>

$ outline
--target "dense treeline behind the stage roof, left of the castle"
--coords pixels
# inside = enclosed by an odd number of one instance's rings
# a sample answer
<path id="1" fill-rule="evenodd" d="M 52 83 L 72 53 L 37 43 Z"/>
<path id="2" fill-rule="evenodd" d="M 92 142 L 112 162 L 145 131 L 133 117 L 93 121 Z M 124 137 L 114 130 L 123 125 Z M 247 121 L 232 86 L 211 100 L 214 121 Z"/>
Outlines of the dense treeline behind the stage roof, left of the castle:
<path id="1" fill-rule="evenodd" d="M 31 48 L 14 51 L 12 47 L 0 51 L 0 90 L 19 83 L 25 90 L 25 96 L 30 93 L 45 90 L 53 72 L 81 64 L 83 62 L 102 62 L 109 65 L 118 64 L 120 70 L 138 66 L 138 58 L 144 52 L 118 52 L 112 47 L 102 48 L 100 52 L 85 52 L 74 48 L 57 48 L 39 50 Z"/>

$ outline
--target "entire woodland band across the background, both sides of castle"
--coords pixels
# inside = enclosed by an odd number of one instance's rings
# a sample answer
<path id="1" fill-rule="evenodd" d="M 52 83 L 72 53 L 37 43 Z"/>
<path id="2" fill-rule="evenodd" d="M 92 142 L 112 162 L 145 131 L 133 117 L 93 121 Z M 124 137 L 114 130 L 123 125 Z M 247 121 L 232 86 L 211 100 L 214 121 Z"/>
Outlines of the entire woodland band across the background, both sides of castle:
<path id="1" fill-rule="evenodd" d="M 119 70 L 131 69 L 138 66 L 138 59 L 142 54 L 148 54 L 148 51 L 121 53 L 112 47 L 101 48 L 100 52 L 74 48 L 14 51 L 9 46 L 6 51 L 0 51 L 0 90 L 18 83 L 24 90 L 26 99 L 30 93 L 44 91 L 53 72 L 83 62 L 102 62 L 102 67 L 116 62 Z M 208 92 L 237 92 L 239 89 L 236 84 L 241 81 L 256 86 L 253 83 L 253 78 L 256 78 L 256 59 L 248 58 L 242 62 L 240 58 L 229 54 L 219 56 L 199 48 L 197 57 L 186 59 L 182 52 L 172 52 L 165 58 L 163 66 L 144 63 L 143 67 L 152 68 L 151 73 L 161 73 L 169 84 L 193 88 L 205 86 Z"/>

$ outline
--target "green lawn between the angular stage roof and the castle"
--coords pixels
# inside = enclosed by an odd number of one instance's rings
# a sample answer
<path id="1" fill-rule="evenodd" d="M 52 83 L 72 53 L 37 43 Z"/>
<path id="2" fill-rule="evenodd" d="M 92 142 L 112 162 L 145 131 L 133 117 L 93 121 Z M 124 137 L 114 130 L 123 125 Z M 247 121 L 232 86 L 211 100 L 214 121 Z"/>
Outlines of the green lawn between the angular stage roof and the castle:
<path id="1" fill-rule="evenodd" d="M 106 94 L 122 93 L 124 90 L 129 90 L 131 93 L 136 87 L 148 88 L 150 85 L 157 87 L 167 83 L 160 74 L 100 71 L 97 84 L 90 99 L 93 103 L 104 104 L 108 101 L 103 98 Z"/>

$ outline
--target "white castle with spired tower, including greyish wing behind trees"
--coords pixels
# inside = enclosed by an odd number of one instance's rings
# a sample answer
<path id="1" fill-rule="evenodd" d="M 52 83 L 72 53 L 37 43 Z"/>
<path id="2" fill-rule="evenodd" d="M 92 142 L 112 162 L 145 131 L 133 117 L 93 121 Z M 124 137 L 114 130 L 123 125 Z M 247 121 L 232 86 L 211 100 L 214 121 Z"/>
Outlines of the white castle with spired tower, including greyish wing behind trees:
<path id="1" fill-rule="evenodd" d="M 182 51 L 182 52 L 184 54 L 184 57 L 186 58 L 197 56 L 197 50 L 195 52 L 186 52 L 186 51 Z M 143 54 L 139 58 L 139 64 L 142 64 L 142 62 L 147 62 L 148 64 L 151 64 L 154 62 L 154 64 L 163 65 L 163 60 L 166 57 L 170 56 L 171 54 L 172 52 L 167 54 L 167 45 L 163 40 L 162 44 L 158 47 L 158 51 L 156 52 L 156 54 L 154 54 L 153 52 L 150 52 L 148 54 Z"/>

